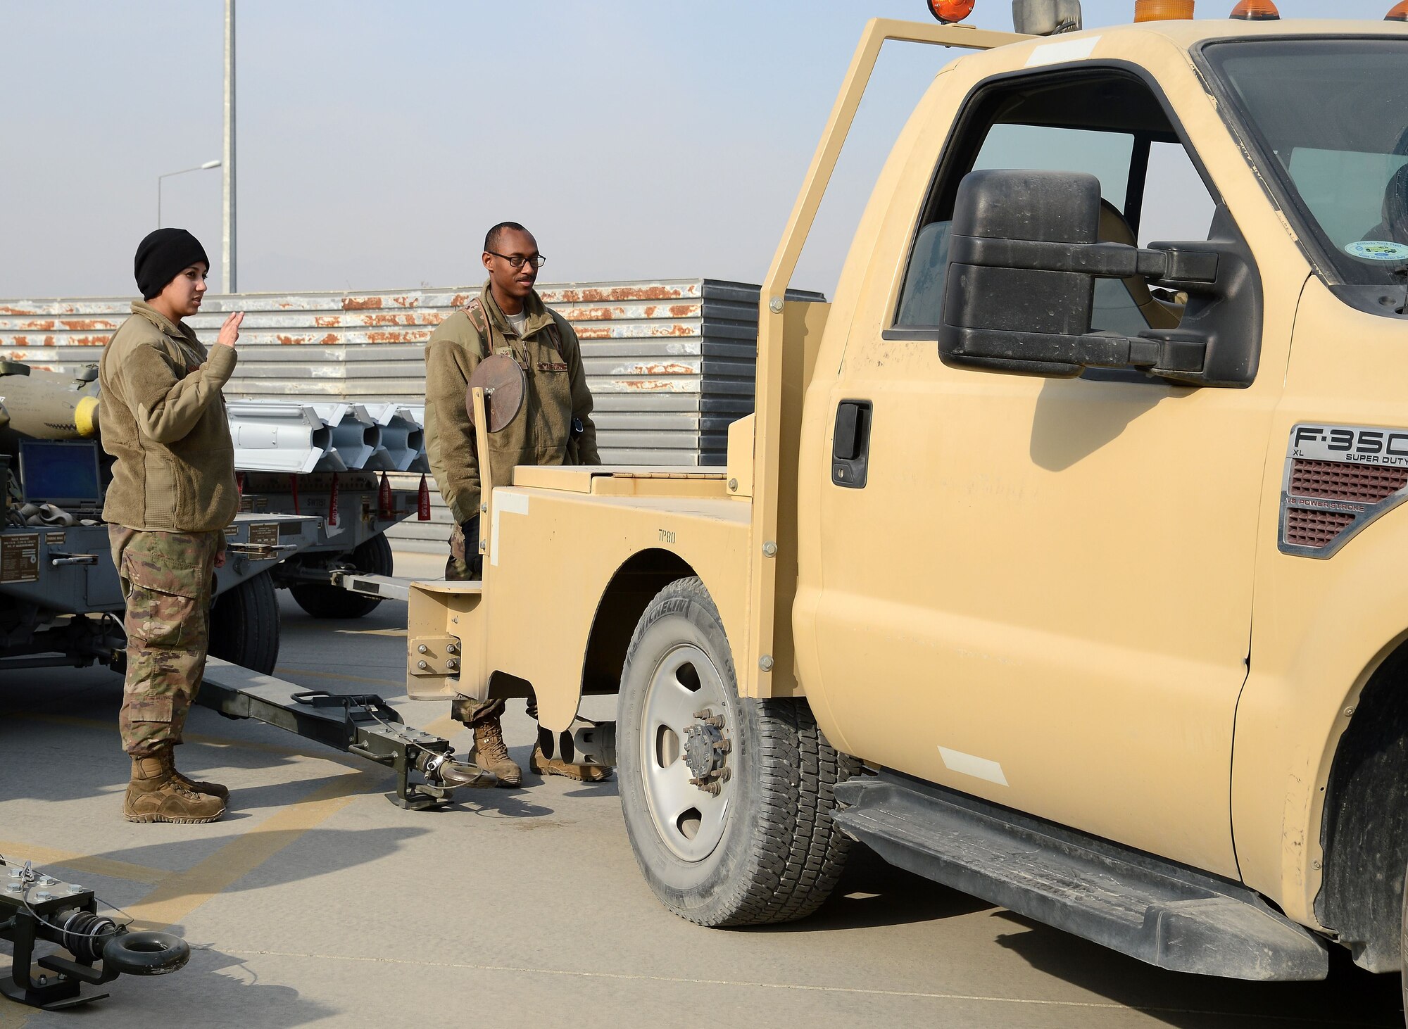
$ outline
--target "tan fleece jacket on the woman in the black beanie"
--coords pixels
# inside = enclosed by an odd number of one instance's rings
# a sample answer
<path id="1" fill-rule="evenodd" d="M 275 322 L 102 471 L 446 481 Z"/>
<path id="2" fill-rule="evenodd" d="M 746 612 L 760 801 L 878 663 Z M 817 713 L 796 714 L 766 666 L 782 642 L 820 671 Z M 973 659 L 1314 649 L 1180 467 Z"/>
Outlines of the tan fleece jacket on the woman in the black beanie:
<path id="1" fill-rule="evenodd" d="M 130 529 L 211 532 L 239 508 L 221 387 L 235 348 L 207 352 L 184 322 L 142 301 L 103 348 L 99 424 L 117 457 L 103 519 Z"/>

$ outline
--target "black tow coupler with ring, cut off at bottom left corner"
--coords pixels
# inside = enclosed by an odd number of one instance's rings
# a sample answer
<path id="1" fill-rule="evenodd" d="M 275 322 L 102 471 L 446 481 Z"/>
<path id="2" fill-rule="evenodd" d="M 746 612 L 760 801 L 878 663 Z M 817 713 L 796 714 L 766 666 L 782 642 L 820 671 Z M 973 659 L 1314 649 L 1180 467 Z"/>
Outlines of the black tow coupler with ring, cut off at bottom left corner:
<path id="1" fill-rule="evenodd" d="M 28 861 L 20 866 L 0 859 L 0 940 L 14 946 L 0 994 L 11 1001 L 45 1011 L 73 1008 L 107 997 L 82 994 L 84 984 L 111 983 L 122 973 L 165 976 L 190 959 L 190 945 L 180 936 L 128 932 L 99 915 L 92 890 L 61 883 Z M 35 961 L 39 942 L 58 943 L 73 959 L 49 954 Z"/>

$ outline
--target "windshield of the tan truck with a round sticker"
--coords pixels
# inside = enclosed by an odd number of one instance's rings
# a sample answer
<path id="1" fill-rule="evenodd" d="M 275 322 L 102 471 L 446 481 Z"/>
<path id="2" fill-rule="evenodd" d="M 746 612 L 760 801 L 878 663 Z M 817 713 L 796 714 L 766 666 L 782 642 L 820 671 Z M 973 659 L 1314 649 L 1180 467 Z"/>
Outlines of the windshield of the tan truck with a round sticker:
<path id="1" fill-rule="evenodd" d="M 1408 39 L 1209 44 L 1263 160 L 1349 284 L 1408 270 Z"/>

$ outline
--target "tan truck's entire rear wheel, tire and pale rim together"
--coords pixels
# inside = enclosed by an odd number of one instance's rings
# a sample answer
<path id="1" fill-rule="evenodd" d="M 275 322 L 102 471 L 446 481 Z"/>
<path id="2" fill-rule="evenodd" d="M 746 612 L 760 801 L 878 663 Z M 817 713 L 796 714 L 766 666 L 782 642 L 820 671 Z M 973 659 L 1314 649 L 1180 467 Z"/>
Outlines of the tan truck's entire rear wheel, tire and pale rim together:
<path id="1" fill-rule="evenodd" d="M 855 762 L 805 701 L 739 698 L 698 579 L 670 583 L 641 615 L 620 705 L 621 809 L 666 908 L 700 925 L 765 925 L 826 899 L 849 846 L 832 787 Z"/>

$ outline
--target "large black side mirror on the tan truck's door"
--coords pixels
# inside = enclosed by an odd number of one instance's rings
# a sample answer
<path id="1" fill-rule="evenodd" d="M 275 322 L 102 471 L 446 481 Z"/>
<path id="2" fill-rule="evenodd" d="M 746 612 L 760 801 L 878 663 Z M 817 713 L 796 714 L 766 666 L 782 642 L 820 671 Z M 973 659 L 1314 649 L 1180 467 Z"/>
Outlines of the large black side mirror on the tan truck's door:
<path id="1" fill-rule="evenodd" d="M 1197 386 L 1247 386 L 1260 287 L 1225 207 L 1212 239 L 1148 249 L 1098 242 L 1100 182 L 1071 172 L 972 172 L 959 183 L 938 334 L 946 365 L 1071 377 L 1135 367 Z M 1183 321 L 1091 332 L 1095 279 L 1139 274 L 1188 293 Z"/>

